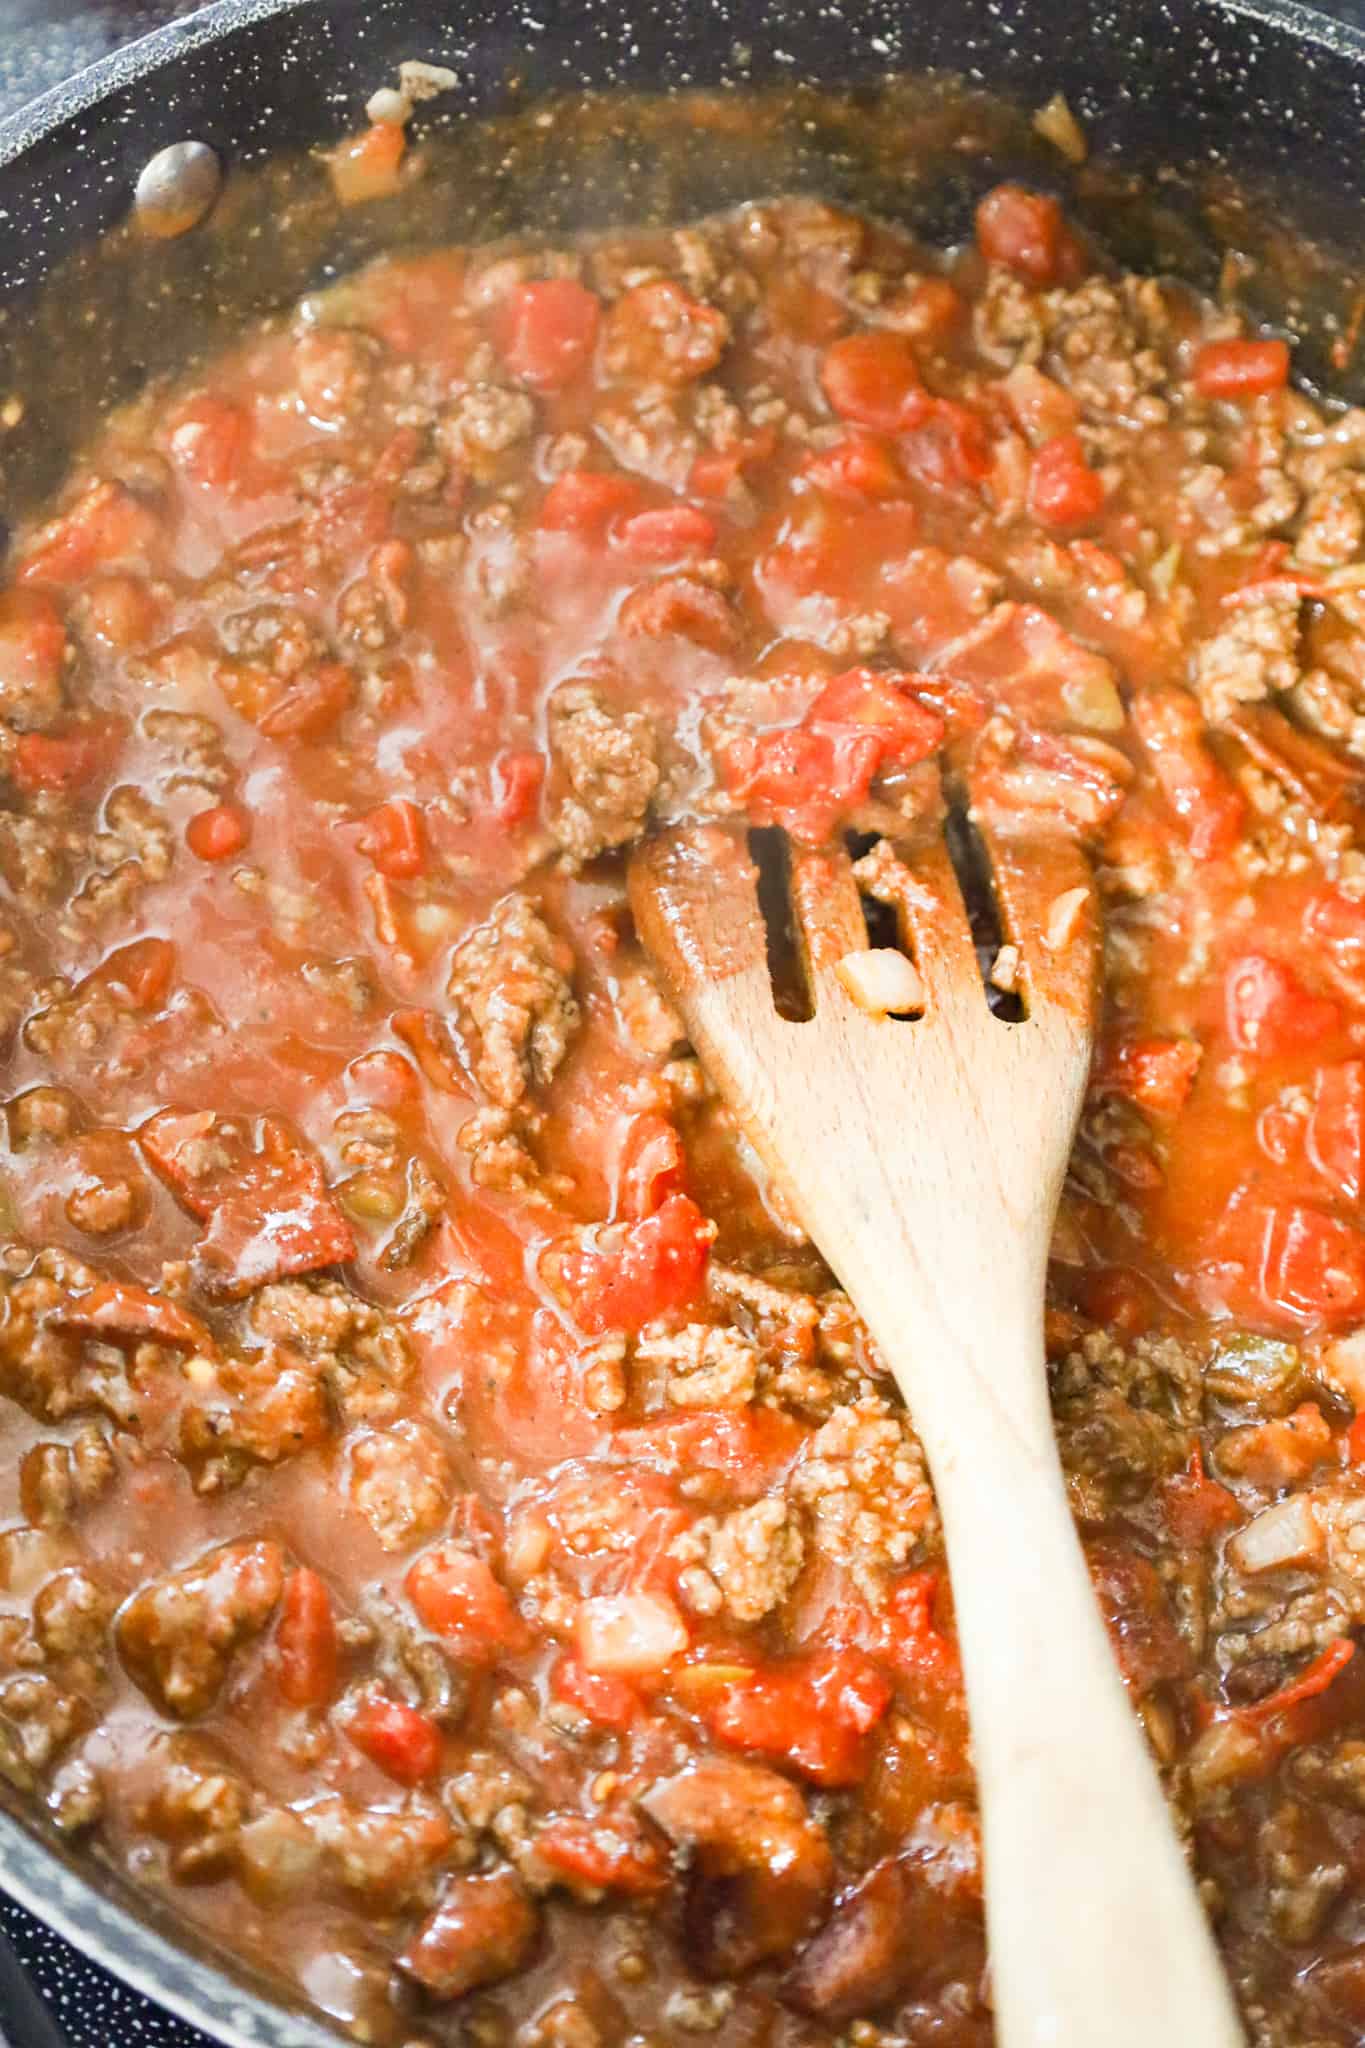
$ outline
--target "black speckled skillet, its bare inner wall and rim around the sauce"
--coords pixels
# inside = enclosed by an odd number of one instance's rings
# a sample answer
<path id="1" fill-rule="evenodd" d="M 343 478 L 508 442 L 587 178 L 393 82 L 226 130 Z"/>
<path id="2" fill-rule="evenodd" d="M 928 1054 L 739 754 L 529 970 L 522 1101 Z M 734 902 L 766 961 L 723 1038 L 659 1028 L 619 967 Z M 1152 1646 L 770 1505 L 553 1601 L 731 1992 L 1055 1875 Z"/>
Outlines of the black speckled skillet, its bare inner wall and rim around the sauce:
<path id="1" fill-rule="evenodd" d="M 438 158 L 405 211 L 340 221 L 315 172 L 260 172 L 213 229 L 153 250 L 123 238 L 78 254 L 127 213 L 153 150 L 196 137 L 241 168 L 336 137 L 405 57 L 460 76 L 446 168 Z M 911 176 L 868 92 L 888 70 L 925 68 L 968 74 L 1021 106 L 1066 92 L 1101 168 L 1066 178 L 1027 119 L 941 88 L 915 102 L 929 168 Z M 757 137 L 708 135 L 700 147 L 667 119 L 548 131 L 512 119 L 497 147 L 479 147 L 469 119 L 581 86 L 798 80 L 855 98 L 833 119 L 796 109 Z M 968 152 L 962 133 L 976 135 Z M 1230 248 L 1250 252 L 1252 264 L 1234 266 L 1238 289 L 1302 336 L 1310 383 L 1357 395 L 1365 373 L 1342 344 L 1357 285 L 1330 246 L 1357 262 L 1365 254 L 1363 133 L 1365 37 L 1289 0 L 528 0 L 524 10 L 225 0 L 0 127 L 0 397 L 27 403 L 0 440 L 0 514 L 14 520 L 53 485 L 102 406 L 391 240 L 696 213 L 778 186 L 825 190 L 952 240 L 982 184 L 1015 172 L 1064 186 L 1124 260 L 1212 285 L 1228 283 Z M 225 2044 L 340 2040 L 176 1933 L 164 1909 L 135 1905 L 113 1872 L 92 1878 L 2 1782 L 0 1888 Z M 10 1964 L 0 1948 L 0 2040 L 8 2028 L 12 2048 L 49 2048 L 55 2034 Z"/>

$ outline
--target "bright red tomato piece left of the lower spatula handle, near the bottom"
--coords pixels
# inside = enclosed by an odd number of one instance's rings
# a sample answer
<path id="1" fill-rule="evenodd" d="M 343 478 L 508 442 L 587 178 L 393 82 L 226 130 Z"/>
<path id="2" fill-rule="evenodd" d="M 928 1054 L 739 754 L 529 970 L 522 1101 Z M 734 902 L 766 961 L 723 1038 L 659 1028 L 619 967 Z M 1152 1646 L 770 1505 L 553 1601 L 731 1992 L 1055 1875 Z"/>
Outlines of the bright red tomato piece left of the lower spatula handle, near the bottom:
<path id="1" fill-rule="evenodd" d="M 872 1659 L 841 1649 L 755 1671 L 722 1692 L 706 1720 L 722 1743 L 776 1757 L 814 1784 L 851 1786 L 890 1702 L 892 1688 Z"/>

